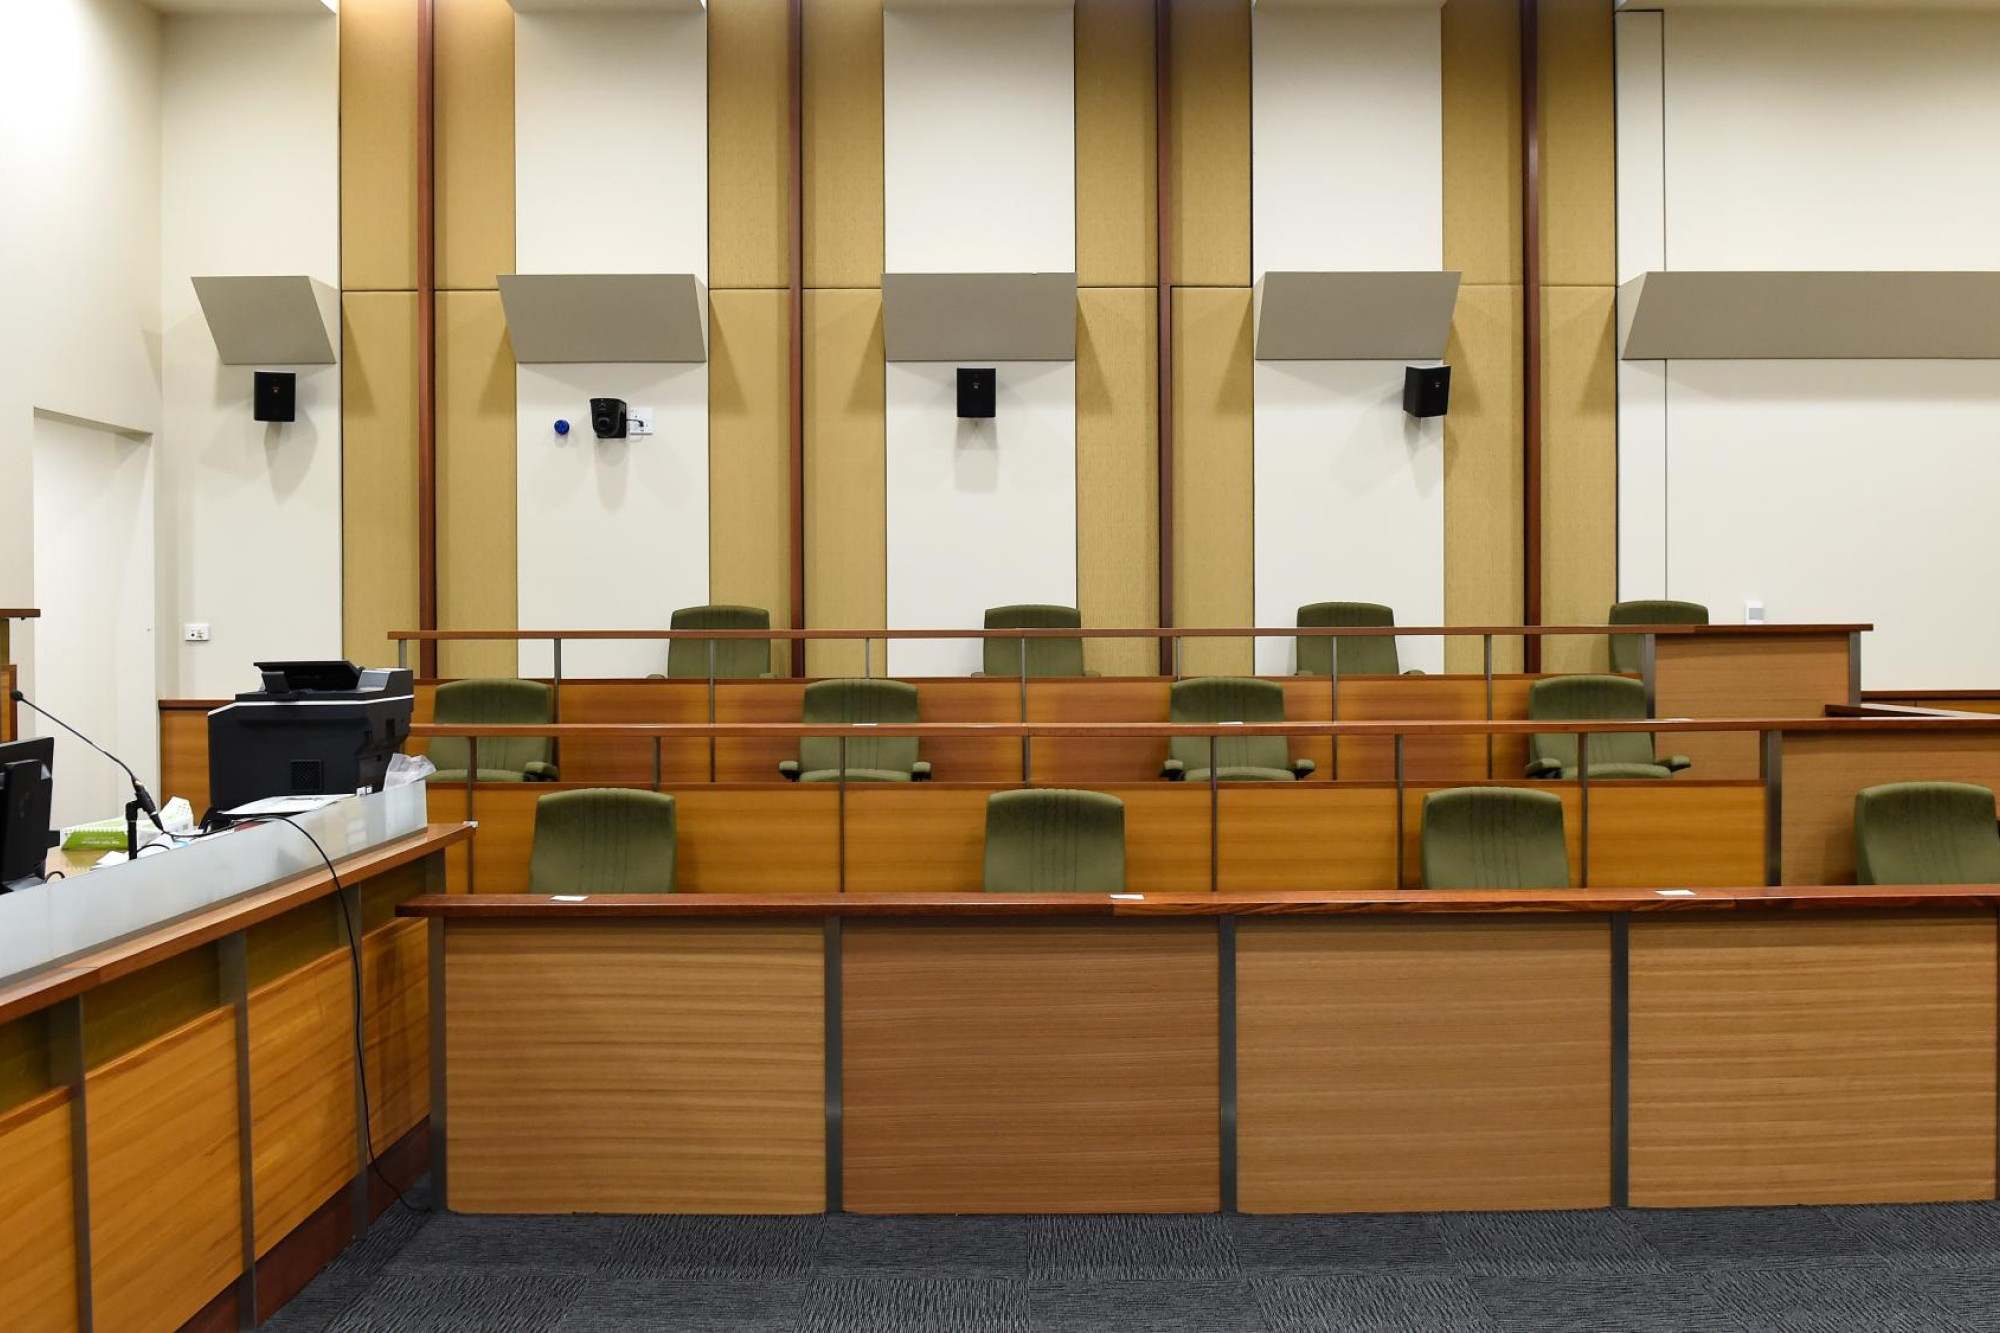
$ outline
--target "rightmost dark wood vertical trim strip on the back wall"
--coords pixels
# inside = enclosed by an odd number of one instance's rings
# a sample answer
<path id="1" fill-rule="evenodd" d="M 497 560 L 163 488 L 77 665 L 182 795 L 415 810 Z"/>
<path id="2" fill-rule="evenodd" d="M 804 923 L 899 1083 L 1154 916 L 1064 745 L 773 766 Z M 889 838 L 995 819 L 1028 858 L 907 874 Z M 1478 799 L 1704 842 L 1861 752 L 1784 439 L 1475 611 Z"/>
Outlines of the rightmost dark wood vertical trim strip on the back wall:
<path id="1" fill-rule="evenodd" d="M 1542 622 L 1542 12 L 1520 0 L 1520 248 L 1522 248 L 1522 622 Z M 1528 671 L 1542 640 L 1526 638 Z"/>

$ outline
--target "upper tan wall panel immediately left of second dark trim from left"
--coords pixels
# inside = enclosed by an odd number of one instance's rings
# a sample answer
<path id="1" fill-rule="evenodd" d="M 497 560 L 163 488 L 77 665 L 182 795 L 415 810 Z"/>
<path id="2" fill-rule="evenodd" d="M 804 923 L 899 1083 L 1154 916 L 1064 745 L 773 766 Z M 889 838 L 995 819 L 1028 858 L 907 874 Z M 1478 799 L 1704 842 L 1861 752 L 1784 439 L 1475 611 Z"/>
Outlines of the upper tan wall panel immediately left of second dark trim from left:
<path id="1" fill-rule="evenodd" d="M 786 0 L 730 0 L 708 10 L 712 288 L 786 286 L 792 280 L 790 84 Z"/>

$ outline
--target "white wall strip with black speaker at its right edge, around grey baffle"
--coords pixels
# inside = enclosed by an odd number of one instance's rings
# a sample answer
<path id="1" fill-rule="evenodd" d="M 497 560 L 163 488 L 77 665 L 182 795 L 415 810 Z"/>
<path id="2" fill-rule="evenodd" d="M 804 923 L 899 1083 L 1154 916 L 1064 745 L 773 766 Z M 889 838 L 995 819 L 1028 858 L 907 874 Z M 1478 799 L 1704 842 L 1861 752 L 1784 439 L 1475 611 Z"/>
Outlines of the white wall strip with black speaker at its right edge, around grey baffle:
<path id="1" fill-rule="evenodd" d="M 1434 8 L 1252 10 L 1252 270 L 1444 266 L 1444 110 Z M 1404 362 L 1254 370 L 1256 622 L 1370 600 L 1444 620 L 1444 428 L 1402 410 Z M 1442 644 L 1402 640 L 1440 671 Z M 1290 638 L 1256 646 L 1290 673 Z"/>

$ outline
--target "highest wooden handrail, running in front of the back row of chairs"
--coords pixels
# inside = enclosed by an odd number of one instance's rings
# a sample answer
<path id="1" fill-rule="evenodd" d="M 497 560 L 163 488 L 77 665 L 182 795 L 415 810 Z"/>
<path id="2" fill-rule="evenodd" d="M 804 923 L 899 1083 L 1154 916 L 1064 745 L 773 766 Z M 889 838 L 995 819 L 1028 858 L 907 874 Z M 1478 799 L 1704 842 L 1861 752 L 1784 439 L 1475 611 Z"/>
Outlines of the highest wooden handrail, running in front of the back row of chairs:
<path id="1" fill-rule="evenodd" d="M 1282 628 L 768 628 L 768 630 L 390 630 L 392 642 L 564 642 L 654 638 L 864 640 L 864 638 L 1556 638 L 1580 634 L 1864 634 L 1872 624 L 1354 624 Z"/>

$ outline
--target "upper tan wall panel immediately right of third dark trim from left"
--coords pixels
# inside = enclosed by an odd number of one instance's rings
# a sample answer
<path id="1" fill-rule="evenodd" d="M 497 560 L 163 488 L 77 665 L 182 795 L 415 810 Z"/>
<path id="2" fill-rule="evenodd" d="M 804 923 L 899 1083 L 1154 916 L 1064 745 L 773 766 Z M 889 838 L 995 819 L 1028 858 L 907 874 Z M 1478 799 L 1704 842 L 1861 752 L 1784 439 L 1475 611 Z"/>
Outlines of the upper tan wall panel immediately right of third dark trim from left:
<path id="1" fill-rule="evenodd" d="M 1250 0 L 1170 4 L 1170 274 L 1250 286 Z"/>

